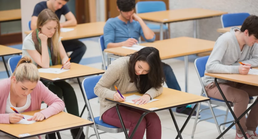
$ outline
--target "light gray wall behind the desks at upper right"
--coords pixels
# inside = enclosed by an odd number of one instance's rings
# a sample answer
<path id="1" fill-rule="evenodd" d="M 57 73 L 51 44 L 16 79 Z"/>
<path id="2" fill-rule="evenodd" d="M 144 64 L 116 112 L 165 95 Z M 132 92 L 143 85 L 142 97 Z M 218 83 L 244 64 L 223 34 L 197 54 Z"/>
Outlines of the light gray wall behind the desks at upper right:
<path id="1" fill-rule="evenodd" d="M 204 8 L 221 10 L 228 13 L 247 12 L 258 15 L 257 0 L 170 0 L 170 10 L 183 8 Z M 171 38 L 180 36 L 193 37 L 193 21 L 170 24 Z M 220 17 L 197 20 L 197 37 L 216 41 L 219 37 L 217 28 L 222 28 Z"/>

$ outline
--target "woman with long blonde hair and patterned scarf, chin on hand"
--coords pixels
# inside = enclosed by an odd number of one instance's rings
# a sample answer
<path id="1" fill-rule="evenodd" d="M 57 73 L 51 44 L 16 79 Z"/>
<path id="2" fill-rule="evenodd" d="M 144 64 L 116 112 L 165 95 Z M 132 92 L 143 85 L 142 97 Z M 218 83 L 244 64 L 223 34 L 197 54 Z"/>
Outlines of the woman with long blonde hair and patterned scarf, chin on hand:
<path id="1" fill-rule="evenodd" d="M 49 68 L 49 66 L 60 65 L 64 69 L 70 69 L 71 63 L 67 62 L 68 56 L 60 39 L 60 23 L 57 15 L 45 9 L 37 18 L 37 29 L 30 33 L 23 41 L 22 56 L 32 58 L 37 67 Z M 47 84 L 47 81 L 42 81 Z M 49 85 L 49 90 L 59 98 L 64 98 L 68 113 L 79 117 L 77 97 L 72 86 L 66 81 L 57 81 Z M 71 129 L 72 137 L 75 139 L 80 128 Z M 82 133 L 80 139 L 84 139 Z M 49 139 L 56 139 L 55 133 L 49 134 Z"/>

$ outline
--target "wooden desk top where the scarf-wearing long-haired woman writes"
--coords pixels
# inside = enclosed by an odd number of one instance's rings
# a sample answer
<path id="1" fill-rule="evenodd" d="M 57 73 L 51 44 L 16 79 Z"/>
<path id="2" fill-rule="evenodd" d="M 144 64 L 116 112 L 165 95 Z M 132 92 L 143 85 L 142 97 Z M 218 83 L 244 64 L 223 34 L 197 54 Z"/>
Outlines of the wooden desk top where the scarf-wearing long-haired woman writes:
<path id="1" fill-rule="evenodd" d="M 63 73 L 59 74 L 54 74 L 54 73 L 39 73 L 40 78 L 43 80 L 55 82 L 55 81 L 63 81 L 67 79 L 72 79 L 72 78 L 78 78 L 78 77 L 84 77 L 84 76 L 91 76 L 91 75 L 97 75 L 97 74 L 102 74 L 105 72 L 105 70 L 100 70 L 76 63 L 71 63 L 71 69 L 68 71 L 65 71 Z M 62 68 L 62 65 L 55 65 L 55 66 L 50 66 L 50 68 Z M 57 80 L 52 80 L 55 78 L 60 78 Z"/>

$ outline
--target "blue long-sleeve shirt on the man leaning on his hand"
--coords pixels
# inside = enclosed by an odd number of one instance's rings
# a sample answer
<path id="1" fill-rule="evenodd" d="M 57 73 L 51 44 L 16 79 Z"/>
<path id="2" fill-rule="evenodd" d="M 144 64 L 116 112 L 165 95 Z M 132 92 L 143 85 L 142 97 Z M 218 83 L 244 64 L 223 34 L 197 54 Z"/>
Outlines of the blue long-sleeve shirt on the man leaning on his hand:
<path id="1" fill-rule="evenodd" d="M 118 43 L 126 41 L 128 38 L 135 38 L 139 41 L 139 37 L 143 36 L 147 42 L 154 42 L 155 35 L 152 39 L 146 39 L 143 34 L 143 29 L 138 21 L 133 20 L 123 22 L 118 17 L 109 18 L 104 26 L 104 42 L 107 48 L 108 43 Z"/>

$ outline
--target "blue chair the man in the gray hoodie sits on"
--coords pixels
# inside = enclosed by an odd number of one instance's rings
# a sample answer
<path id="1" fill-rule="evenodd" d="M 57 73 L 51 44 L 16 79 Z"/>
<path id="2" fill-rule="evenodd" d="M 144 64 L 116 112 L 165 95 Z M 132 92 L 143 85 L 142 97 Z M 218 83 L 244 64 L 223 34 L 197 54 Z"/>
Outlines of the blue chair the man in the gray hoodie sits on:
<path id="1" fill-rule="evenodd" d="M 201 96 L 203 96 L 203 97 L 207 97 L 207 96 L 208 96 L 207 93 L 206 93 L 206 90 L 205 90 L 203 81 L 202 81 L 202 77 L 204 77 L 205 68 L 206 68 L 206 63 L 207 63 L 208 59 L 209 59 L 209 56 L 205 56 L 205 57 L 197 58 L 197 59 L 195 59 L 195 61 L 194 61 L 195 70 L 196 70 L 197 75 L 198 75 L 198 77 L 199 77 L 199 80 L 200 80 L 200 82 L 201 82 L 201 87 L 202 87 Z M 209 97 L 209 96 L 208 96 L 208 97 Z M 211 113 L 212 113 L 212 116 L 213 116 L 213 117 L 209 117 L 209 118 L 206 118 L 206 119 L 201 119 L 201 120 L 199 120 L 198 122 L 204 121 L 204 120 L 208 120 L 208 119 L 212 119 L 212 118 L 213 118 L 214 121 L 215 121 L 215 124 L 216 124 L 216 126 L 217 126 L 217 129 L 218 129 L 218 131 L 219 131 L 219 134 L 221 134 L 220 126 L 223 125 L 223 130 L 224 130 L 226 123 L 231 123 L 231 122 L 233 122 L 233 121 L 226 122 L 226 121 L 227 121 L 227 117 L 228 117 L 229 108 L 227 107 L 227 105 L 226 105 L 226 103 L 225 103 L 224 100 L 216 99 L 216 98 L 213 98 L 213 97 L 209 97 L 209 98 L 210 98 L 209 101 L 205 101 L 205 102 L 208 103 L 208 105 L 209 105 L 209 108 L 206 108 L 206 109 L 210 109 L 210 110 L 211 110 Z M 249 99 L 250 99 L 250 100 L 249 100 L 249 104 L 250 104 L 250 103 L 253 103 L 253 97 L 249 97 Z M 216 106 L 213 106 L 213 107 L 212 107 L 211 104 L 216 105 Z M 233 106 L 234 106 L 234 103 L 232 103 L 232 102 L 229 101 L 229 105 L 230 105 L 231 107 L 233 107 Z M 200 106 L 201 106 L 201 104 L 198 105 L 196 115 L 199 115 L 199 113 L 200 113 L 201 111 L 206 110 L 206 109 L 201 109 L 201 110 L 200 110 Z M 226 114 L 221 114 L 221 115 L 215 116 L 215 114 L 214 114 L 214 112 L 213 112 L 213 108 L 218 107 L 218 106 L 225 106 L 225 107 L 227 108 Z M 222 123 L 222 124 L 220 124 L 220 125 L 218 125 L 218 122 L 217 122 L 217 119 L 216 119 L 216 117 L 219 117 L 219 116 L 225 116 L 224 123 Z M 197 123 L 198 123 L 197 120 L 198 120 L 198 118 L 195 118 L 194 125 L 193 125 L 192 138 L 193 138 L 193 135 L 194 135 L 194 132 L 195 132 L 195 129 L 196 129 L 196 125 L 197 125 Z M 222 137 L 222 138 L 223 138 L 223 137 Z"/>

